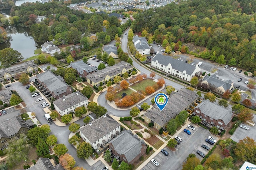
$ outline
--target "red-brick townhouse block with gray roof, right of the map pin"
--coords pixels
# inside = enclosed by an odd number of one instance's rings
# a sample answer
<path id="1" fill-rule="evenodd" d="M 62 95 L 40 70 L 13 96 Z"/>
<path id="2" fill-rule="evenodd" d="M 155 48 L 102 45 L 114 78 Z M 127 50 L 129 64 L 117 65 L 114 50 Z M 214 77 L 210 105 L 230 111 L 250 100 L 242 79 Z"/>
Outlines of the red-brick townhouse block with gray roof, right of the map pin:
<path id="1" fill-rule="evenodd" d="M 204 100 L 194 108 L 193 115 L 199 116 L 204 124 L 223 130 L 233 118 L 233 113 L 228 107 L 219 106 L 210 100 Z"/>

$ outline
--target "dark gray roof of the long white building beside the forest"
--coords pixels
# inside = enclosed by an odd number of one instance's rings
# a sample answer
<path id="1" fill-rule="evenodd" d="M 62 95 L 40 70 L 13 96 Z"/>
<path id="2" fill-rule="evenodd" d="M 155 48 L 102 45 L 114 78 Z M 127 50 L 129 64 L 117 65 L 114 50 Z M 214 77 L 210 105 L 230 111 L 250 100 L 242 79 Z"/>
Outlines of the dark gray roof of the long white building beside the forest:
<path id="1" fill-rule="evenodd" d="M 158 62 L 164 66 L 167 66 L 169 63 L 172 65 L 172 68 L 174 70 L 178 70 L 180 72 L 186 71 L 186 74 L 191 75 L 194 70 L 196 69 L 196 66 L 193 66 L 188 63 L 184 63 L 180 60 L 173 59 L 172 57 L 168 55 L 162 55 L 162 54 L 156 54 L 154 58 L 152 59 L 154 62 Z"/>

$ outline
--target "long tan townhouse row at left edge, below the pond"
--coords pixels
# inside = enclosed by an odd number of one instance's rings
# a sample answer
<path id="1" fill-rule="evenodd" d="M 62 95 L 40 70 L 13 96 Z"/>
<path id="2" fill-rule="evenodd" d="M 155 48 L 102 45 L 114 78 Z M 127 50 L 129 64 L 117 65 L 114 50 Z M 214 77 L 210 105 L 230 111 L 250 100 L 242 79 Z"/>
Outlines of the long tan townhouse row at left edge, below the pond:
<path id="1" fill-rule="evenodd" d="M 19 78 L 22 73 L 33 73 L 38 71 L 38 65 L 33 61 L 26 61 L 22 63 L 14 64 L 8 68 L 0 69 L 0 82 L 11 80 L 11 78 Z"/>

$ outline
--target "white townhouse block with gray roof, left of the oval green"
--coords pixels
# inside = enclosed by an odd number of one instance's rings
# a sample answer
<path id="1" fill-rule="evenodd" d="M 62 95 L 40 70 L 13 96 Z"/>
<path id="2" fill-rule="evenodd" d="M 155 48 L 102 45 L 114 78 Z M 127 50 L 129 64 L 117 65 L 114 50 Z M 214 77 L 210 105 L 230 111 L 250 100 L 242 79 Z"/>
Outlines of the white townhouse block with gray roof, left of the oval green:
<path id="1" fill-rule="evenodd" d="M 54 108 L 64 116 L 70 112 L 75 112 L 76 107 L 87 107 L 88 98 L 80 92 L 73 92 L 68 96 L 59 98 L 53 102 Z"/>

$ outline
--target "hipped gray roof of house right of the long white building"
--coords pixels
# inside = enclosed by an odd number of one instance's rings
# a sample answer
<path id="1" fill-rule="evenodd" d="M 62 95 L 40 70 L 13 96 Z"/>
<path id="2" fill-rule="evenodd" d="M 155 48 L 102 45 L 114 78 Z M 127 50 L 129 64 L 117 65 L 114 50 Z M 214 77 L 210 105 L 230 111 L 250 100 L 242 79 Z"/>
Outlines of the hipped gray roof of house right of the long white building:
<path id="1" fill-rule="evenodd" d="M 218 79 L 215 74 L 213 74 L 211 76 L 206 75 L 202 81 L 207 81 L 208 84 L 210 84 L 211 86 L 214 86 L 216 88 L 223 87 L 225 91 L 230 90 L 230 88 L 232 86 L 232 81 L 230 79 L 227 81 L 222 81 L 222 80 Z"/>

